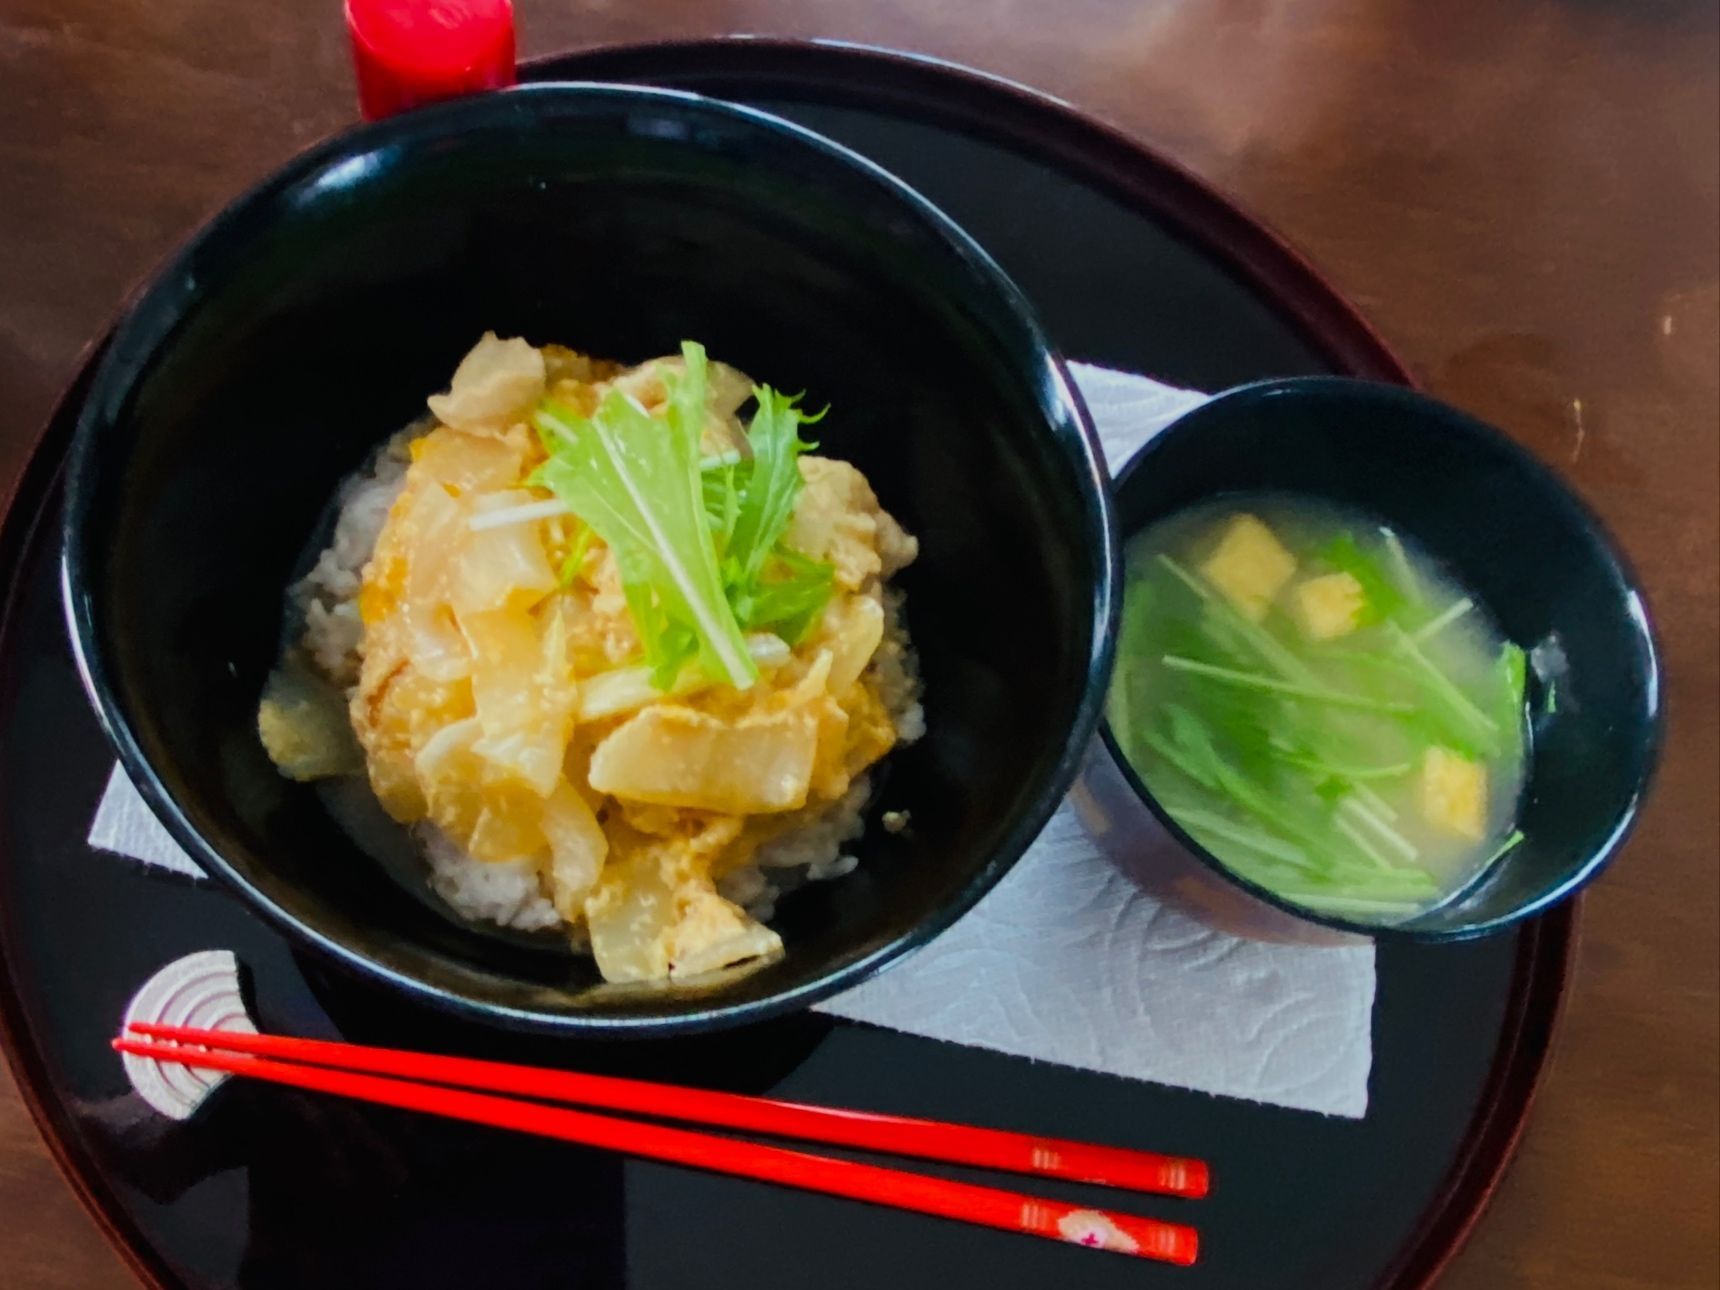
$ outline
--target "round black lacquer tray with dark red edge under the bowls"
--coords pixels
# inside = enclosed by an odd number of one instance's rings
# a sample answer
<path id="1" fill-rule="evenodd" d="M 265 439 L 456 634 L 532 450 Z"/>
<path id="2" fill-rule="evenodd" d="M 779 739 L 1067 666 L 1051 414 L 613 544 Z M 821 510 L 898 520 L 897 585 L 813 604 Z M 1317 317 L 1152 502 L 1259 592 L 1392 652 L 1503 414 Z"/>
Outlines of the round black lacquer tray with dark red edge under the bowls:
<path id="1" fill-rule="evenodd" d="M 967 225 L 1070 358 L 1209 390 L 1309 372 L 1407 380 L 1245 213 L 1022 88 L 924 58 L 760 40 L 595 50 L 528 76 L 697 89 L 857 148 Z M 648 1044 L 501 1039 L 327 975 L 213 888 L 91 851 L 114 759 L 60 614 L 58 473 L 76 397 L 74 384 L 0 526 L 0 1023 L 67 1178 L 146 1283 L 1416 1287 L 1486 1204 L 1546 1056 L 1570 906 L 1481 943 L 1383 946 L 1371 1109 L 1345 1121 L 819 1017 Z M 127 1096 L 107 1041 L 148 974 L 217 946 L 244 960 L 273 1030 L 1199 1154 L 1216 1173 L 1211 1199 L 1142 1207 L 1195 1221 L 1204 1254 L 1194 1269 L 1149 1266 L 279 1089 L 229 1087 L 175 1128 Z"/>

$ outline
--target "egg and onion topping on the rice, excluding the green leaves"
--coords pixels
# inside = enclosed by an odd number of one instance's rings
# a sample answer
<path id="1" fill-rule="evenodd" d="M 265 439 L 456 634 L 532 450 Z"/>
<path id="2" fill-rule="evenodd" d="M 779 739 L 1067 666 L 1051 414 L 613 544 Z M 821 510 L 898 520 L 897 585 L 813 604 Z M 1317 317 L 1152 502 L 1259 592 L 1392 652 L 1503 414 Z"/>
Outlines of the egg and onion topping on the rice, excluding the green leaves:
<path id="1" fill-rule="evenodd" d="M 788 544 L 834 568 L 822 619 L 791 648 L 752 636 L 745 691 L 638 662 L 616 559 L 571 516 L 475 526 L 547 492 L 528 418 L 549 394 L 588 415 L 611 387 L 648 411 L 659 359 L 623 370 L 487 335 L 430 399 L 358 597 L 353 731 L 401 822 L 428 820 L 478 860 L 538 863 L 609 980 L 707 972 L 777 953 L 714 881 L 839 800 L 896 743 L 869 664 L 889 617 L 884 580 L 917 544 L 843 461 L 800 458 Z M 743 444 L 740 373 L 712 365 L 714 451 Z"/>

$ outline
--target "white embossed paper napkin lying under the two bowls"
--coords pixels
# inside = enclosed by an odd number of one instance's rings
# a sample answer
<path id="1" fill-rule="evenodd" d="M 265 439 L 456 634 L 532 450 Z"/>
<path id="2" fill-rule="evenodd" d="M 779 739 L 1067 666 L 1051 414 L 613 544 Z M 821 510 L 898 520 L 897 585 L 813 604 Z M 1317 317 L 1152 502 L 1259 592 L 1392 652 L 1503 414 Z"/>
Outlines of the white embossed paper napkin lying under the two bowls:
<path id="1" fill-rule="evenodd" d="M 1072 365 L 1108 463 L 1206 396 Z M 89 845 L 201 879 L 114 769 Z M 1237 941 L 1161 906 L 1068 803 L 955 927 L 820 1004 L 834 1017 L 1037 1061 L 1359 1118 L 1373 1065 L 1373 946 Z"/>

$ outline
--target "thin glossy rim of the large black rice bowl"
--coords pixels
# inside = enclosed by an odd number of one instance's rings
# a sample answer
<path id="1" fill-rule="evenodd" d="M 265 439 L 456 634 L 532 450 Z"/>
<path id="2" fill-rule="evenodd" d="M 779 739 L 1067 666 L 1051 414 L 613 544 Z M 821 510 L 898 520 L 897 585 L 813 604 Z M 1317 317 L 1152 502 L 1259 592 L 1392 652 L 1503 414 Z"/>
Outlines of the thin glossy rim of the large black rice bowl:
<path id="1" fill-rule="evenodd" d="M 89 552 L 83 540 L 83 518 L 89 507 L 88 480 L 95 471 L 93 458 L 96 439 L 101 430 L 101 418 L 93 413 L 98 396 L 115 382 L 131 384 L 132 368 L 148 361 L 155 353 L 138 335 L 144 315 L 169 310 L 182 316 L 184 306 L 169 299 L 175 273 L 181 273 L 191 258 L 206 244 L 234 237 L 234 225 L 258 206 L 279 200 L 296 186 L 327 174 L 329 169 L 358 155 L 378 153 L 408 136 L 432 129 L 439 124 L 452 122 L 466 114 L 487 114 L 497 110 L 518 110 L 530 115 L 537 101 L 590 101 L 590 100 L 626 100 L 640 105 L 678 107 L 695 114 L 722 117 L 745 124 L 764 134 L 776 134 L 795 146 L 817 153 L 827 163 L 846 167 L 857 177 L 865 179 L 888 201 L 894 201 L 920 227 L 934 234 L 936 241 L 955 261 L 967 268 L 999 306 L 998 315 L 1004 318 L 1013 342 L 1034 354 L 1034 372 L 1023 372 L 1027 387 L 1039 392 L 1035 413 L 1044 423 L 1042 428 L 1053 437 L 1056 449 L 1068 459 L 1080 492 L 1080 511 L 1084 531 L 1080 540 L 1096 547 L 1097 576 L 1090 588 L 1089 647 L 1084 664 L 1085 683 L 1080 698 L 1073 707 L 1072 721 L 1063 736 L 1063 746 L 1053 764 L 1049 776 L 1032 795 L 1017 795 L 1017 820 L 1006 831 L 1001 843 L 963 882 L 956 896 L 937 906 L 934 913 L 908 931 L 891 937 L 875 949 L 860 955 L 839 968 L 822 970 L 812 979 L 777 991 L 750 1003 L 721 1003 L 721 991 L 705 998 L 688 999 L 688 1006 L 674 1013 L 624 1015 L 624 1013 L 585 1013 L 585 1011 L 540 1011 L 483 1001 L 447 989 L 416 975 L 392 968 L 377 961 L 368 953 L 346 944 L 344 941 L 310 927 L 301 918 L 258 891 L 227 858 L 201 836 L 179 807 L 172 793 L 167 791 L 150 759 L 143 753 L 132 734 L 131 721 L 119 702 L 114 678 L 100 647 L 98 614 L 95 597 L 81 593 L 88 585 L 86 571 Z M 1054 415 L 1061 413 L 1061 415 Z M 1068 433 L 1073 430 L 1073 433 Z M 1075 535 L 1072 535 L 1075 537 Z M 246 905 L 265 922 L 280 931 L 291 943 L 301 944 L 323 960 L 354 972 L 359 977 L 396 989 L 416 1003 L 428 1004 L 444 1013 L 480 1022 L 501 1023 L 516 1030 L 538 1034 L 580 1035 L 580 1037 L 662 1037 L 673 1034 L 693 1034 L 719 1030 L 734 1025 L 760 1022 L 771 1017 L 798 1011 L 831 998 L 843 989 L 860 984 L 912 951 L 922 948 L 991 891 L 998 881 L 1022 858 L 1029 845 L 1044 829 L 1056 812 L 1063 796 L 1075 783 L 1082 757 L 1099 724 L 1104 707 L 1106 685 L 1111 674 L 1113 650 L 1116 645 L 1118 612 L 1118 569 L 1120 544 L 1116 518 L 1111 506 L 1109 475 L 1104 454 L 1099 445 L 1092 418 L 1082 401 L 1080 390 L 1068 373 L 1063 354 L 1051 342 L 1039 322 L 1027 294 L 1003 270 L 961 225 L 943 212 L 936 203 L 920 194 L 906 181 L 872 162 L 865 155 L 829 139 L 817 131 L 798 126 L 759 108 L 710 98 L 685 89 L 664 89 L 657 86 L 621 84 L 612 81 L 533 81 L 507 89 L 456 98 L 433 103 L 423 108 L 399 114 L 378 122 L 368 122 L 339 131 L 327 139 L 311 144 L 286 163 L 273 169 L 263 179 L 243 189 L 229 200 L 206 222 L 194 227 L 184 241 L 165 258 L 134 292 L 117 320 L 110 344 L 100 358 L 100 365 L 86 389 L 76 416 L 72 444 L 65 463 L 65 511 L 60 535 L 60 595 L 65 609 L 72 659 L 77 667 L 84 691 L 96 712 L 98 724 L 108 743 L 119 755 L 120 765 L 138 788 L 144 803 L 155 817 L 167 827 L 172 839 L 184 848 L 210 875 L 230 891 L 237 893 Z"/>

